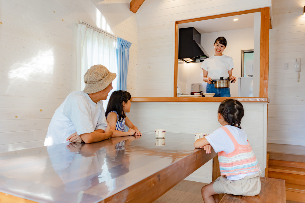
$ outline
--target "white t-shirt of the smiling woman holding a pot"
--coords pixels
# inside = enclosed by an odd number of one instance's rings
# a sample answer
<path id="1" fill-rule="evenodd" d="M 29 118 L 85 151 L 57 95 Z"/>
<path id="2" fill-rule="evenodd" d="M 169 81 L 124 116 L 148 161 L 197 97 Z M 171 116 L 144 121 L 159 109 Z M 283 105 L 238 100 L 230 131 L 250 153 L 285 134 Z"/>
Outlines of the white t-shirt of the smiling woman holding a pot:
<path id="1" fill-rule="evenodd" d="M 227 79 L 229 70 L 234 69 L 233 59 L 230 56 L 211 56 L 205 59 L 200 67 L 208 71 L 208 77 L 212 80 L 220 80 L 220 77 Z"/>

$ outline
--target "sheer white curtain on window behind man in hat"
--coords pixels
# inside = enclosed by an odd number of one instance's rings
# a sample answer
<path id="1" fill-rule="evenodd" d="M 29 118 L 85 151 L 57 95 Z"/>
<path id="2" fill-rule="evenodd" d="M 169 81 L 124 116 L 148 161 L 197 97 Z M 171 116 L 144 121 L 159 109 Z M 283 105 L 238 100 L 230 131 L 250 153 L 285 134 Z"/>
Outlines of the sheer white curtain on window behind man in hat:
<path id="1" fill-rule="evenodd" d="M 107 103 L 113 91 L 118 90 L 118 65 L 117 65 L 117 40 L 108 37 L 86 25 L 77 24 L 76 54 L 77 54 L 77 80 L 76 91 L 85 88 L 84 74 L 93 65 L 101 64 L 116 73 L 117 77 L 112 82 L 113 89 L 107 100 L 103 101 L 106 111 Z"/>

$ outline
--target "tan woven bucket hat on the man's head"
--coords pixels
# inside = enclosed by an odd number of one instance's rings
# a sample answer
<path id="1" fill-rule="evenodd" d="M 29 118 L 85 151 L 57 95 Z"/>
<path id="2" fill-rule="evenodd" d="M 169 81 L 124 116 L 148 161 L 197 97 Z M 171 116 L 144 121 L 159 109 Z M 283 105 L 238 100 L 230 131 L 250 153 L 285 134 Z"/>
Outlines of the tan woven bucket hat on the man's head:
<path id="1" fill-rule="evenodd" d="M 84 92 L 87 94 L 99 92 L 108 87 L 115 77 L 117 74 L 109 72 L 103 65 L 91 66 L 84 75 L 86 84 Z"/>

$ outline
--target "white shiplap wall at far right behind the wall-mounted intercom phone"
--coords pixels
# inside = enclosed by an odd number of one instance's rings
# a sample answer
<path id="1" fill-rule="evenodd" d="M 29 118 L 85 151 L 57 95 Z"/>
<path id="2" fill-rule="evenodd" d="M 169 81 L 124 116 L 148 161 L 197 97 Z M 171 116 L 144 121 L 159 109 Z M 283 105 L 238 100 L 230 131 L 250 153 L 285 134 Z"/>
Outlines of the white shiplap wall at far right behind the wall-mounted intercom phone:
<path id="1" fill-rule="evenodd" d="M 268 143 L 305 145 L 305 0 L 274 0 L 269 42 Z M 294 70 L 301 58 L 300 82 Z M 284 63 L 289 69 L 284 70 Z"/>

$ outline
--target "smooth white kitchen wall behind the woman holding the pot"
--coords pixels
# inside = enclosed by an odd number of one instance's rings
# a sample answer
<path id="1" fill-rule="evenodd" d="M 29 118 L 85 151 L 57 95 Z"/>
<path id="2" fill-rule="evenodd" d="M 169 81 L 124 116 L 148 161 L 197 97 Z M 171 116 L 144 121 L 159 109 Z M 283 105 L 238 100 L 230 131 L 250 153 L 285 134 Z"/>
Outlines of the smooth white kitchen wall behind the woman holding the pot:
<path id="1" fill-rule="evenodd" d="M 234 62 L 233 76 L 241 77 L 241 50 L 249 50 L 254 48 L 254 28 L 245 28 L 239 30 L 227 30 L 221 32 L 204 33 L 201 34 L 201 45 L 209 56 L 214 55 L 213 44 L 217 37 L 225 37 L 227 39 L 227 47 L 223 54 L 231 56 Z M 179 60 L 180 61 L 180 60 Z M 178 77 L 179 69 L 187 69 L 186 92 L 191 93 L 192 83 L 206 83 L 202 80 L 203 72 L 200 66 L 202 62 L 198 63 L 184 63 L 184 66 L 178 63 Z M 179 81 L 179 80 L 178 80 Z M 179 84 L 179 82 L 178 82 Z M 230 84 L 230 92 L 232 97 L 237 97 L 238 81 Z"/>

